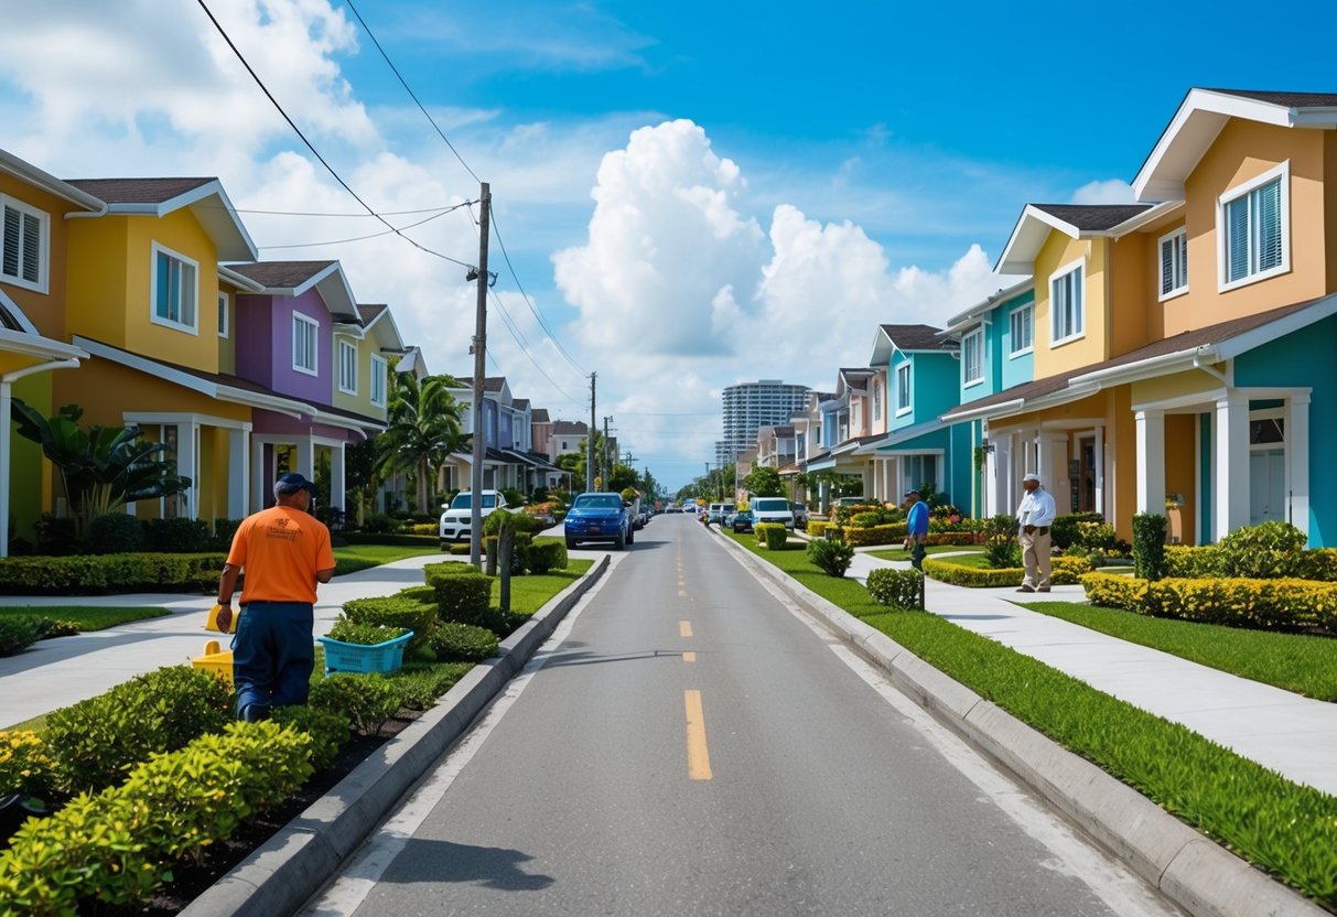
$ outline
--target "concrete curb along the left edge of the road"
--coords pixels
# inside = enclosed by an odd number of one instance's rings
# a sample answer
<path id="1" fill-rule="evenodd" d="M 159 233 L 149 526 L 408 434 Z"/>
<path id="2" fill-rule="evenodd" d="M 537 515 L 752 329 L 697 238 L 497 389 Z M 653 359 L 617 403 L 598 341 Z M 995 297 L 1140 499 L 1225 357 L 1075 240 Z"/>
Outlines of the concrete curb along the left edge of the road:
<path id="1" fill-rule="evenodd" d="M 180 913 L 186 917 L 290 914 L 320 892 L 404 794 L 501 692 L 558 623 L 608 569 L 602 556 L 567 592 L 501 642 L 441 700 L 328 794 L 259 846 Z"/>

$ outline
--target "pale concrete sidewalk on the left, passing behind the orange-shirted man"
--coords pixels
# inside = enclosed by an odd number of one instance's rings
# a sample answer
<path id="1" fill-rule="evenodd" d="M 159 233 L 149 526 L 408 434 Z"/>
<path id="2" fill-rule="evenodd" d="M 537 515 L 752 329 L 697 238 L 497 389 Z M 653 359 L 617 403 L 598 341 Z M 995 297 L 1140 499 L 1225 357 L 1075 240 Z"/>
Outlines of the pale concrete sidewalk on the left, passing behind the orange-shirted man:
<path id="1" fill-rule="evenodd" d="M 316 603 L 316 636 L 329 632 L 344 603 L 422 585 L 422 567 L 449 555 L 424 555 L 381 567 L 337 576 L 320 587 Z M 163 666 L 189 663 L 205 643 L 229 638 L 205 630 L 214 595 L 167 595 L 142 592 L 100 596 L 0 596 L 3 606 L 159 606 L 164 618 L 122 624 L 57 640 L 39 640 L 16 656 L 0 658 L 0 729 L 21 723 L 59 707 L 96 696 L 135 675 Z"/>

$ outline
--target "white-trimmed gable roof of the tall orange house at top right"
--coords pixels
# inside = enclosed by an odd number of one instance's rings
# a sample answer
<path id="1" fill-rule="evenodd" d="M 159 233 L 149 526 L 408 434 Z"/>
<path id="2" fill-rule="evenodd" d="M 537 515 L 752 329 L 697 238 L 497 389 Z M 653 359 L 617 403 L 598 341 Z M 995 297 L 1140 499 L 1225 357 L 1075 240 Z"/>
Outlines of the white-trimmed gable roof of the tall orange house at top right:
<path id="1" fill-rule="evenodd" d="M 1337 128 L 1337 94 L 1189 90 L 1132 179 L 1138 201 L 1182 201 L 1185 179 L 1231 118 L 1332 130 Z"/>

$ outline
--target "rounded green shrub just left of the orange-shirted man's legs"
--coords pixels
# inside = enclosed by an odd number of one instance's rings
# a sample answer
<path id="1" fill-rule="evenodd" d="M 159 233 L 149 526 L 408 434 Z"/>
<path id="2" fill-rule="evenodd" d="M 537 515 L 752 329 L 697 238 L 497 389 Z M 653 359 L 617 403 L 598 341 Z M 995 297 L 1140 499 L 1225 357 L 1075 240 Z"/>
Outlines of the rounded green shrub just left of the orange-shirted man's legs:
<path id="1" fill-rule="evenodd" d="M 100 790 L 155 751 L 175 751 L 233 718 L 231 688 L 211 672 L 171 666 L 62 707 L 47 746 L 62 790 Z"/>

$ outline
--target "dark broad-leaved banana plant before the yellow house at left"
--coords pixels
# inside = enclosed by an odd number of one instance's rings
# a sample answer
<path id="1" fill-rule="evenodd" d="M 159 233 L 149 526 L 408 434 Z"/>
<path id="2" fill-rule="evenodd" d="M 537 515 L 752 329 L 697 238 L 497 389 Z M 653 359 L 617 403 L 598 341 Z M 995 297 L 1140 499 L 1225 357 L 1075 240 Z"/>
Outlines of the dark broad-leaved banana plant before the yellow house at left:
<path id="1" fill-rule="evenodd" d="M 11 416 L 19 436 L 41 446 L 60 473 L 79 533 L 98 516 L 127 503 L 158 500 L 190 489 L 191 480 L 164 460 L 166 442 L 140 438 L 138 426 L 79 426 L 83 408 L 64 405 L 55 417 L 15 398 Z"/>

